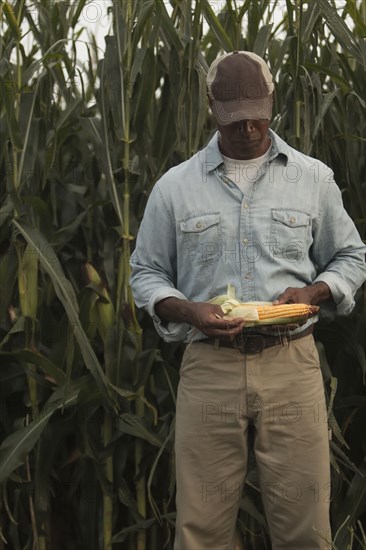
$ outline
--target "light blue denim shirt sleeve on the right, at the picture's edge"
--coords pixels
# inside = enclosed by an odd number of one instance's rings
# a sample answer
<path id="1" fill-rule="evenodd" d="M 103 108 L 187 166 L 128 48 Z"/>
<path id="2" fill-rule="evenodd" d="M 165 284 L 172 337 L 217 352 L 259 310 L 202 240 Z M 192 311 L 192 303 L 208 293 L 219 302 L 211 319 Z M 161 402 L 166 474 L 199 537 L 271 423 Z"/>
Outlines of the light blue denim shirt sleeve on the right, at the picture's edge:
<path id="1" fill-rule="evenodd" d="M 330 169 L 327 181 L 314 236 L 314 259 L 318 267 L 314 283 L 325 282 L 337 314 L 348 315 L 355 305 L 355 293 L 366 279 L 366 246 L 343 206 L 341 191 Z"/>

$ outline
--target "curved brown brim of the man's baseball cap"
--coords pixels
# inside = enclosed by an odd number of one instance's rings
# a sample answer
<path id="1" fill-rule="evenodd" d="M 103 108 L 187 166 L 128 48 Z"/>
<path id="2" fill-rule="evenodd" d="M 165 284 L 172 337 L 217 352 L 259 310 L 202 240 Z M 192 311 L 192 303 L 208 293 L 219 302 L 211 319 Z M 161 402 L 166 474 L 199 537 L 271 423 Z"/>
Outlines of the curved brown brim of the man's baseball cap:
<path id="1" fill-rule="evenodd" d="M 239 120 L 270 120 L 272 97 L 240 101 L 218 101 L 212 98 L 211 110 L 217 122 L 223 126 Z"/>

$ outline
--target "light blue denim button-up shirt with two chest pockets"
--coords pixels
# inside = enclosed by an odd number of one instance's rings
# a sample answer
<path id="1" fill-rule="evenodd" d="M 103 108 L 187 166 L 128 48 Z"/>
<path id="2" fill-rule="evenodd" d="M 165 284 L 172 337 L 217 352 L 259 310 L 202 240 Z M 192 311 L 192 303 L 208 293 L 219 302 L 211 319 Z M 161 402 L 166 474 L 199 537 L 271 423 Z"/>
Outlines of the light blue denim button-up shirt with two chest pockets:
<path id="1" fill-rule="evenodd" d="M 158 301 L 207 301 L 226 294 L 228 283 L 248 302 L 324 281 L 334 300 L 330 309 L 350 313 L 366 278 L 366 247 L 331 169 L 270 130 L 269 161 L 243 195 L 225 175 L 218 137 L 171 168 L 151 192 L 131 257 L 136 305 L 166 341 L 204 336 L 186 323 L 162 322 Z"/>

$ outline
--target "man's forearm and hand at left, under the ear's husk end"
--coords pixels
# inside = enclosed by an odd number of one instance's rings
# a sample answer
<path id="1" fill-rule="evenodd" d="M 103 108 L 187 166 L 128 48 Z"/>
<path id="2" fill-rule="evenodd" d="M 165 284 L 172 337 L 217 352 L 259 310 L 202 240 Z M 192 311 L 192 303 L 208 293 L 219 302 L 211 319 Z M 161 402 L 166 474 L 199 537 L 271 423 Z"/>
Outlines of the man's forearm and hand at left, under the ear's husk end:
<path id="1" fill-rule="evenodd" d="M 189 323 L 206 336 L 233 340 L 245 325 L 243 319 L 224 319 L 220 306 L 208 302 L 190 302 L 166 298 L 155 305 L 156 314 L 165 321 Z"/>

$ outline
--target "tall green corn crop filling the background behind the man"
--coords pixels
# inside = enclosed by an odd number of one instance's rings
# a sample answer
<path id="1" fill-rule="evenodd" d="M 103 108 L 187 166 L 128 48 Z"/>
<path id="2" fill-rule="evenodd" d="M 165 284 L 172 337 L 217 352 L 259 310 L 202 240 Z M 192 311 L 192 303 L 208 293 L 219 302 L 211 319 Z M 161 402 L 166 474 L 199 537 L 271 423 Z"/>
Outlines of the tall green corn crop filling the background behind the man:
<path id="1" fill-rule="evenodd" d="M 154 183 L 214 130 L 220 52 L 265 56 L 272 127 L 333 167 L 366 238 L 364 1 L 116 0 L 102 44 L 87 5 L 0 2 L 0 549 L 173 548 L 183 349 L 135 309 L 129 257 Z M 360 291 L 317 331 L 337 549 L 366 548 L 365 311 Z M 270 548 L 252 458 L 238 531 Z"/>

